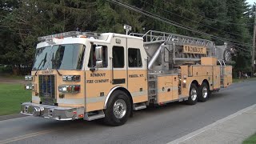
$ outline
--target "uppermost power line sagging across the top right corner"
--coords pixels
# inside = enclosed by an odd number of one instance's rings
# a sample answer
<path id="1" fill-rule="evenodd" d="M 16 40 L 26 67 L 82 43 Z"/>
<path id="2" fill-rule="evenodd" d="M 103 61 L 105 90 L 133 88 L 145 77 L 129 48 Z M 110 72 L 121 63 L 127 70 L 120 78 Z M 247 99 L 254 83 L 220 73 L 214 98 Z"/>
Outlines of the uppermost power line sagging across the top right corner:
<path id="1" fill-rule="evenodd" d="M 166 2 L 166 0 L 163 0 L 163 2 Z M 185 10 L 185 11 L 187 11 L 187 12 L 190 13 L 190 14 L 198 15 L 198 16 L 200 16 L 200 17 L 202 17 L 202 18 L 206 18 L 206 19 L 208 19 L 208 20 L 210 20 L 210 21 L 221 22 L 221 23 L 225 23 L 225 24 L 229 24 L 229 25 L 238 25 L 238 26 L 251 26 L 251 25 L 254 25 L 254 23 L 246 23 L 246 24 L 243 23 L 243 24 L 240 24 L 240 23 L 224 22 L 224 21 L 220 21 L 220 20 L 217 20 L 217 19 L 207 18 L 206 16 L 203 16 L 203 15 L 201 15 L 201 14 L 196 14 L 196 13 L 194 13 L 194 12 L 192 12 L 192 11 L 186 10 L 186 9 L 183 8 L 182 6 L 175 5 L 175 4 L 171 3 L 171 2 L 167 2 L 167 3 L 169 3 L 169 4 L 173 5 L 173 6 L 176 6 L 176 7 L 178 7 L 178 8 L 181 9 L 181 10 Z"/>

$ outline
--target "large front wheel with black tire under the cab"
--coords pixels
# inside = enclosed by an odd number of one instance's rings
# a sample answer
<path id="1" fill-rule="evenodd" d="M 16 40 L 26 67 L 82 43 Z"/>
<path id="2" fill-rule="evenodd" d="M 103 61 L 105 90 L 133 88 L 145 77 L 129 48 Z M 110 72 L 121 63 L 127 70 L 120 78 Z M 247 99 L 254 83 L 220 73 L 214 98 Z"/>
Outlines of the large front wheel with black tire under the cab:
<path id="1" fill-rule="evenodd" d="M 121 126 L 126 123 L 131 113 L 131 102 L 122 90 L 115 90 L 107 102 L 104 122 L 109 126 Z"/>

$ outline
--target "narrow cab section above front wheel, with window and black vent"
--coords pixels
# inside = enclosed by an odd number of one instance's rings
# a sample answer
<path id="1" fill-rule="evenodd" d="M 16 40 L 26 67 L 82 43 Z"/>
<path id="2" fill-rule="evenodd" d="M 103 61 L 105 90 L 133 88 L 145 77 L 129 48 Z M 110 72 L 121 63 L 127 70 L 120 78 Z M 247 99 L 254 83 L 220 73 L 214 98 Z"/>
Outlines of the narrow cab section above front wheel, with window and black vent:
<path id="1" fill-rule="evenodd" d="M 127 88 L 126 38 L 115 38 L 112 47 L 112 85 Z"/>

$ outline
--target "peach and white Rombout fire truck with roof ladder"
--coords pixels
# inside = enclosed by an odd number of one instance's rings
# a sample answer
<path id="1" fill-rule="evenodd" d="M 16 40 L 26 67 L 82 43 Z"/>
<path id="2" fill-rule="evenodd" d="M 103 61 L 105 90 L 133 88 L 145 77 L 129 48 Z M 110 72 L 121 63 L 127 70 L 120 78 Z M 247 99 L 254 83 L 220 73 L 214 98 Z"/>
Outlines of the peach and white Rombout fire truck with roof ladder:
<path id="1" fill-rule="evenodd" d="M 223 51 L 206 39 L 155 30 L 40 37 L 25 77 L 32 101 L 22 103 L 21 113 L 120 126 L 150 105 L 206 102 L 232 83 Z"/>

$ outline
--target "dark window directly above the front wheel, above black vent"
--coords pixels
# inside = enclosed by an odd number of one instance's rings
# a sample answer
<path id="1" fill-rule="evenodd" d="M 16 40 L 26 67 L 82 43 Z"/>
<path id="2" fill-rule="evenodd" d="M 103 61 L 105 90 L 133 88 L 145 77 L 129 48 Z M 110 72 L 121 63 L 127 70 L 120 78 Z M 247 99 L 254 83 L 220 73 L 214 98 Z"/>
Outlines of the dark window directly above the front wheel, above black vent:
<path id="1" fill-rule="evenodd" d="M 125 66 L 124 48 L 121 46 L 113 46 L 113 67 L 122 68 Z"/>

